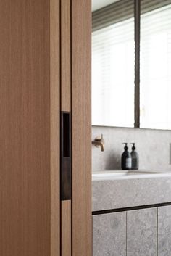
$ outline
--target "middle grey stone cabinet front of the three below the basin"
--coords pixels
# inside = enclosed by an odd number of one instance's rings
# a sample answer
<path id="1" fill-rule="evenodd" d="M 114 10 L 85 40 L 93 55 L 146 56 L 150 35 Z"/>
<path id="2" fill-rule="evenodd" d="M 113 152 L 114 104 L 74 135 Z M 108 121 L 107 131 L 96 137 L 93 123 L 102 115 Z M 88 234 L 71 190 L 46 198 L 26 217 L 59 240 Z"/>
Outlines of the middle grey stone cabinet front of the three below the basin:
<path id="1" fill-rule="evenodd" d="M 157 256 L 157 208 L 127 212 L 127 256 Z"/>

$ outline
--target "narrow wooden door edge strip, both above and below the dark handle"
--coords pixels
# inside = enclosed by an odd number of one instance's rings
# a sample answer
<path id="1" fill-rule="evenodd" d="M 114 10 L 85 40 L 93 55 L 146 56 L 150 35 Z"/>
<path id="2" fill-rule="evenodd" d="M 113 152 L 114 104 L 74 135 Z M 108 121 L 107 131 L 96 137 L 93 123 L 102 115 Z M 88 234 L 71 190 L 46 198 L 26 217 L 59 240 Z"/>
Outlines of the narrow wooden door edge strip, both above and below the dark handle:
<path id="1" fill-rule="evenodd" d="M 61 1 L 61 110 L 71 110 L 70 10 L 71 0 Z M 61 256 L 71 256 L 71 200 L 61 202 Z"/>

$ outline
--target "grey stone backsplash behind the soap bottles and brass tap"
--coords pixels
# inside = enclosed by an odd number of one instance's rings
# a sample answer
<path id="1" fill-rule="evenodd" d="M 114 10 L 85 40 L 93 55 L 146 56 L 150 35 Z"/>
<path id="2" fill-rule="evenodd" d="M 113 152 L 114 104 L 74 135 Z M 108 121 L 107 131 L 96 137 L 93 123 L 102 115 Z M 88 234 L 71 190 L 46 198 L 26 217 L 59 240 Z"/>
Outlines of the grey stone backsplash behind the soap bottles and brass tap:
<path id="1" fill-rule="evenodd" d="M 104 134 L 105 149 L 92 146 L 92 170 L 120 170 L 122 142 L 135 142 L 141 170 L 170 170 L 171 131 L 92 127 L 92 140 Z M 128 145 L 131 149 L 131 145 Z"/>

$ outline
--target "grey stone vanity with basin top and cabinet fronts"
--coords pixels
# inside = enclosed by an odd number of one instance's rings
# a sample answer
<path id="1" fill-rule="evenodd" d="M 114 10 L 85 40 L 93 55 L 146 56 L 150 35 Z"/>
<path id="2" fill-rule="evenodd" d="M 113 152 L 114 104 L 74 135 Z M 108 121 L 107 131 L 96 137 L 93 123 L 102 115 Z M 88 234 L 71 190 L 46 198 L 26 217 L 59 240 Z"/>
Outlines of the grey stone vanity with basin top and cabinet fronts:
<path id="1" fill-rule="evenodd" d="M 171 255 L 171 174 L 93 173 L 93 256 Z"/>

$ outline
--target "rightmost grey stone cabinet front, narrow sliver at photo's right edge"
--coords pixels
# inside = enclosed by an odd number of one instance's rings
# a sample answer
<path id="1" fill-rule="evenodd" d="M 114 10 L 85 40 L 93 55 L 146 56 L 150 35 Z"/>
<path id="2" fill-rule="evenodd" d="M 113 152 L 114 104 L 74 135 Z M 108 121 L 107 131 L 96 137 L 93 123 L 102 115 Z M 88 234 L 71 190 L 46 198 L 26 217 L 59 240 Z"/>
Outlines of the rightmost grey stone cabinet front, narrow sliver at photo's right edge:
<path id="1" fill-rule="evenodd" d="M 158 208 L 158 256 L 171 255 L 171 206 Z"/>

